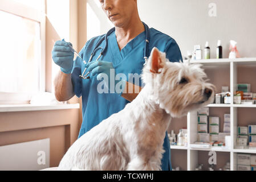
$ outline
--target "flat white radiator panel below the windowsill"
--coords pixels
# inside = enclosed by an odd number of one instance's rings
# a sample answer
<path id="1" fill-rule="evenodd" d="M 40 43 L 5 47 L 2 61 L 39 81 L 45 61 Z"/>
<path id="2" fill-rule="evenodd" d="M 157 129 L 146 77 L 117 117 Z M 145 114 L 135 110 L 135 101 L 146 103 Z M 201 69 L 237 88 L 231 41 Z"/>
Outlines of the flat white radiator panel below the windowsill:
<path id="1" fill-rule="evenodd" d="M 50 167 L 50 138 L 0 146 L 0 171 Z"/>

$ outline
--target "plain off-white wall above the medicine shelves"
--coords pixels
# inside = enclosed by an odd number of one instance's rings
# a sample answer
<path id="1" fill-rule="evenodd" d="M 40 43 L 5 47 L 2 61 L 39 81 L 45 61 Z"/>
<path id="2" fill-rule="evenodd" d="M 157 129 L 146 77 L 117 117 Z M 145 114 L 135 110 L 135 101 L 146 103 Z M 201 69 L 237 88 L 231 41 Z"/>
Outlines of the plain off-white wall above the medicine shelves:
<path id="1" fill-rule="evenodd" d="M 209 41 L 211 57 L 216 57 L 217 40 L 222 40 L 224 57 L 229 40 L 238 42 L 242 57 L 256 57 L 255 0 L 137 0 L 141 19 L 176 39 L 183 56 L 195 44 Z M 217 16 L 208 7 L 216 3 Z"/>

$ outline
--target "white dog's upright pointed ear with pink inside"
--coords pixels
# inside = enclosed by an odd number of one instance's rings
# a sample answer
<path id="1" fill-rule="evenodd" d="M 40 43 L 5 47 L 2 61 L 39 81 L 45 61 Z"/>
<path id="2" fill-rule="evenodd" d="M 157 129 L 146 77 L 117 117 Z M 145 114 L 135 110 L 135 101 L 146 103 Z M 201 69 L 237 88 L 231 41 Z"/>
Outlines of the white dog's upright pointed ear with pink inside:
<path id="1" fill-rule="evenodd" d="M 165 57 L 165 56 L 164 56 Z M 151 73 L 160 73 L 161 68 L 164 67 L 165 59 L 163 60 L 163 56 L 161 55 L 161 52 L 159 49 L 154 47 L 151 51 L 151 56 L 149 58 L 150 60 L 150 71 Z"/>

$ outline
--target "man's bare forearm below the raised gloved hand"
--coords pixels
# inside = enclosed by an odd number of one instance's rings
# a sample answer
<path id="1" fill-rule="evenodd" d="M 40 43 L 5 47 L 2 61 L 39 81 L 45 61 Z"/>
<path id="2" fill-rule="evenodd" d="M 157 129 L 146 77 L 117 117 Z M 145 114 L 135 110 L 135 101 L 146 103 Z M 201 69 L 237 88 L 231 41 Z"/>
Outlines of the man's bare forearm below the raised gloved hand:
<path id="1" fill-rule="evenodd" d="M 71 74 L 59 72 L 55 81 L 55 96 L 58 101 L 70 100 L 75 94 L 73 92 L 73 85 L 71 81 Z"/>

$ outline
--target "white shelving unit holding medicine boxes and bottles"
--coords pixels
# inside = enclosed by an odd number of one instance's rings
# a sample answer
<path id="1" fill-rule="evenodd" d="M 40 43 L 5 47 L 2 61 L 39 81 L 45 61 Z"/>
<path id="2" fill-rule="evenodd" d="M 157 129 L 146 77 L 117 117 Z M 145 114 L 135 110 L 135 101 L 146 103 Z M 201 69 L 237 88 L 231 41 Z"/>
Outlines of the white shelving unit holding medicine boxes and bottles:
<path id="1" fill-rule="evenodd" d="M 233 103 L 234 91 L 237 85 L 237 78 L 238 78 L 238 68 L 245 67 L 245 68 L 253 68 L 255 67 L 256 72 L 256 57 L 249 57 L 249 58 L 239 58 L 239 59 L 210 59 L 210 60 L 192 60 L 190 61 L 191 64 L 202 64 L 204 69 L 208 69 L 211 72 L 219 72 L 219 68 L 225 68 L 229 71 L 229 86 L 231 92 L 231 103 Z M 207 72 L 206 72 L 207 74 Z M 226 73 L 228 74 L 228 73 Z M 255 77 L 256 78 L 256 77 Z M 252 79 L 252 80 L 255 80 Z M 211 82 L 211 81 L 210 81 Z M 255 81 L 254 81 L 255 82 Z M 254 82 L 249 82 L 250 84 L 254 84 Z M 245 82 L 243 82 L 245 83 Z M 213 83 L 215 84 L 215 83 Z M 223 85 L 226 86 L 226 85 Z M 251 90 L 256 92 L 256 90 Z M 247 154 L 256 154 L 256 150 L 252 149 L 236 149 L 235 148 L 235 140 L 237 137 L 237 114 L 238 108 L 256 108 L 256 105 L 238 105 L 238 104 L 209 104 L 207 107 L 210 109 L 214 108 L 226 108 L 229 109 L 230 112 L 230 135 L 231 137 L 231 147 L 211 147 L 211 148 L 192 148 L 190 144 L 197 141 L 197 111 L 192 111 L 187 115 L 187 129 L 188 129 L 188 146 L 170 146 L 172 150 L 186 150 L 186 158 L 187 158 L 187 170 L 193 171 L 198 162 L 198 152 L 200 151 L 216 151 L 216 152 L 225 152 L 224 155 L 229 154 L 230 156 L 230 170 L 235 171 L 237 169 L 237 153 L 247 153 Z M 255 111 L 253 111 L 256 113 Z M 228 114 L 228 113 L 226 113 Z M 255 125 L 256 125 L 256 117 L 255 117 Z M 201 154 L 201 153 L 200 153 Z M 210 156 L 209 156 L 210 157 Z M 217 155 L 218 157 L 218 155 Z"/>

